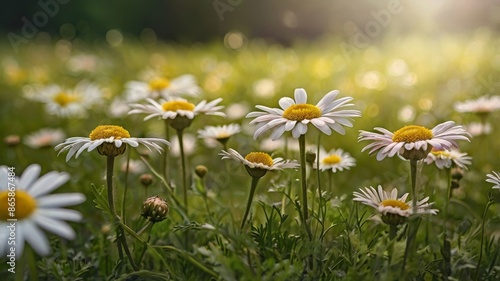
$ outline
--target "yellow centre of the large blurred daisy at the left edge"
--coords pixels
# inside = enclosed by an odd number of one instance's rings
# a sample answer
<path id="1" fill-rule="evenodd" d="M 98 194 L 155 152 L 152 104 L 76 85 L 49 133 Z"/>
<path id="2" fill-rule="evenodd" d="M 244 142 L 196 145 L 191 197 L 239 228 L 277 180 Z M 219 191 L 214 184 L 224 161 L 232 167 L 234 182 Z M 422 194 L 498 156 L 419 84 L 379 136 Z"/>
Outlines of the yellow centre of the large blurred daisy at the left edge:
<path id="1" fill-rule="evenodd" d="M 15 197 L 9 196 L 8 191 L 0 192 L 0 220 L 6 221 L 7 219 L 22 220 L 31 215 L 36 209 L 36 200 L 31 197 L 27 192 L 22 190 L 15 191 Z M 10 198 L 15 198 L 13 201 Z M 10 199 L 10 200 L 9 200 Z M 14 202 L 14 208 L 11 206 Z M 9 205 L 9 203 L 11 205 Z M 9 209 L 12 208 L 12 209 Z"/>

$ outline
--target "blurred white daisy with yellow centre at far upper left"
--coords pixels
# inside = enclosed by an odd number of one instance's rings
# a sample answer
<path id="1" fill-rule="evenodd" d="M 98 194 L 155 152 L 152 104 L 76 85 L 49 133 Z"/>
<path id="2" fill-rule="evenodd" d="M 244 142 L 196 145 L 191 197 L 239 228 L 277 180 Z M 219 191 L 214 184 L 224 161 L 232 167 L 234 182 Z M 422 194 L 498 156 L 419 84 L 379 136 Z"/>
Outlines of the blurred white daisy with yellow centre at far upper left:
<path id="1" fill-rule="evenodd" d="M 46 111 L 59 117 L 86 117 L 87 110 L 102 102 L 101 88 L 87 81 L 78 83 L 73 89 L 58 85 L 30 89 L 25 92 L 27 98 L 45 103 Z"/>

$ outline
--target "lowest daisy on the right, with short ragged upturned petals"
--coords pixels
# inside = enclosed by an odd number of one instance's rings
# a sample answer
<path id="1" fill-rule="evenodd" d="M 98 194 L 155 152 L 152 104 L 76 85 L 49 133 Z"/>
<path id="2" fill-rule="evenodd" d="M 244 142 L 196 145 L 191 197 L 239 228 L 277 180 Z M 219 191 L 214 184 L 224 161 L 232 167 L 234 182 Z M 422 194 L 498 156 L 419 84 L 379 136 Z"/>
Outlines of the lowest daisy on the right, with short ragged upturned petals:
<path id="1" fill-rule="evenodd" d="M 398 190 L 396 188 L 389 193 L 384 191 L 380 185 L 378 186 L 378 192 L 371 186 L 370 188 L 365 187 L 365 190 L 361 188 L 359 190 L 361 192 L 353 192 L 353 200 L 377 209 L 382 214 L 382 221 L 386 224 L 403 224 L 407 217 L 414 214 L 411 207 L 413 204 L 412 201 L 406 202 L 409 193 L 405 193 L 398 198 Z M 431 209 L 433 203 L 428 203 L 428 201 L 429 197 L 417 201 L 417 214 L 437 214 L 439 210 Z"/>

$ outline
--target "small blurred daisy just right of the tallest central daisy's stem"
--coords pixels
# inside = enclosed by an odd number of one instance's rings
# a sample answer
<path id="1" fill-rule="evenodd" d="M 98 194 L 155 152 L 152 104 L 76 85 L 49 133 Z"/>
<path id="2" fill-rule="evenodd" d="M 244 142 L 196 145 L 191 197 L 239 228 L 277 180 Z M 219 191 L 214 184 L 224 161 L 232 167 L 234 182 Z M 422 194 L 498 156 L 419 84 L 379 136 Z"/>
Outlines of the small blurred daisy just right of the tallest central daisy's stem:
<path id="1" fill-rule="evenodd" d="M 351 167 L 356 166 L 356 159 L 345 152 L 343 149 L 332 149 L 326 152 L 325 149 L 319 149 L 319 169 L 321 171 L 332 170 L 337 171 L 349 170 Z M 314 161 L 314 168 L 316 169 L 316 161 Z"/>

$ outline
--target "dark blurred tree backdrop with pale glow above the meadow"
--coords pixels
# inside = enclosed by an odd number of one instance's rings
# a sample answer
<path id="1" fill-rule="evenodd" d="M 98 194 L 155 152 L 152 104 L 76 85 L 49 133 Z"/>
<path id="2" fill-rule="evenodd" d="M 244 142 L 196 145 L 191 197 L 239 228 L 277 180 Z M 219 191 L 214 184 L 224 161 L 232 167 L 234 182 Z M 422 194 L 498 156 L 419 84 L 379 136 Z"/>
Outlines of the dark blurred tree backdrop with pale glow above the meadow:
<path id="1" fill-rule="evenodd" d="M 21 0 L 3 3 L 2 38 L 9 32 L 20 35 L 26 21 L 52 39 L 99 42 L 118 30 L 148 42 L 193 43 L 220 40 L 237 30 L 247 38 L 291 44 L 325 35 L 349 37 L 355 28 L 377 38 L 382 33 L 463 33 L 480 26 L 498 30 L 500 1 Z"/>

